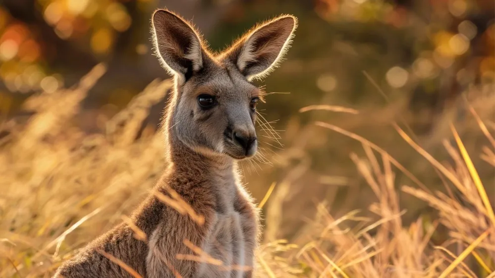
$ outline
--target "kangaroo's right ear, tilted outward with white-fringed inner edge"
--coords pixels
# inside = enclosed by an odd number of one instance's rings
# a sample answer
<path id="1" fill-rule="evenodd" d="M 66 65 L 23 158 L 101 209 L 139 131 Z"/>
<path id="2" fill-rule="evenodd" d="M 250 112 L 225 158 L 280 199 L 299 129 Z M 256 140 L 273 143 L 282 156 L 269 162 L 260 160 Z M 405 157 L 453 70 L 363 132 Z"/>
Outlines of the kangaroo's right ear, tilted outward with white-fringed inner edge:
<path id="1" fill-rule="evenodd" d="M 228 58 L 248 79 L 263 78 L 282 59 L 297 28 L 297 18 L 283 15 L 256 26 L 229 50 Z"/>

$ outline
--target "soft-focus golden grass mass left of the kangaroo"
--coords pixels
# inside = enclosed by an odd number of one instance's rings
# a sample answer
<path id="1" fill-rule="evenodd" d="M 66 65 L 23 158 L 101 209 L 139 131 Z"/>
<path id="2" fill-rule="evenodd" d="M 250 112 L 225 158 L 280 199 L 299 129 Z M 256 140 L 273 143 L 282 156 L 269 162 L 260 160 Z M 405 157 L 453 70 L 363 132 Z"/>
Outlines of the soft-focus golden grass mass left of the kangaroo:
<path id="1" fill-rule="evenodd" d="M 98 65 L 74 88 L 34 95 L 27 123 L 1 125 L 10 129 L 0 145 L 0 164 L 8 165 L 0 167 L 0 277 L 53 274 L 130 213 L 162 173 L 162 135 L 136 137 L 170 81 L 151 83 L 105 135 L 86 135 L 72 118 L 104 73 Z"/>

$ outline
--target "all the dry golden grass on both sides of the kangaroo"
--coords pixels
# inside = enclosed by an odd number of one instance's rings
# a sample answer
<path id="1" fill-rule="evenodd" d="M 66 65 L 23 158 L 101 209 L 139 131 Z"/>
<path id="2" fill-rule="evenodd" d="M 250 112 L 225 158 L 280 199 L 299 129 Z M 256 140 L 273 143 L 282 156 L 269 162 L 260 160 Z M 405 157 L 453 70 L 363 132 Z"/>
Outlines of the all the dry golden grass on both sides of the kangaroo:
<path id="1" fill-rule="evenodd" d="M 99 65 L 75 88 L 31 97 L 25 108 L 35 115 L 25 123 L 10 121 L 0 126 L 0 277 L 50 277 L 88 241 L 127 222 L 126 215 L 152 193 L 164 168 L 163 135 L 146 129 L 141 132 L 141 125 L 171 84 L 153 82 L 106 123 L 105 135 L 86 135 L 72 118 L 104 72 L 105 67 Z M 358 114 L 355 109 L 322 105 L 302 111 L 315 109 Z M 474 109 L 470 111 L 489 142 L 480 147 L 481 159 L 495 167 L 493 125 L 484 123 Z M 268 121 L 261 124 L 277 138 L 269 126 Z M 445 190 L 435 192 L 378 145 L 328 123 L 317 126 L 362 144 L 364 154 L 356 150 L 350 158 L 376 195 L 377 201 L 369 207 L 376 217 L 351 211 L 334 218 L 330 204 L 322 202 L 304 232 L 290 242 L 267 229 L 257 252 L 259 277 L 495 277 L 495 216 L 485 190 L 493 185 L 483 185 L 472 154 L 453 126 L 456 145 L 443 144 L 450 163 L 437 161 L 395 126 L 444 181 Z M 293 151 L 290 155 L 300 163 L 284 181 L 270 186 L 260 204 L 271 203 L 266 211 L 270 225 L 279 221 L 276 204 L 288 194 L 288 184 L 307 169 L 306 154 Z M 397 185 L 398 173 L 413 184 Z M 397 188 L 428 203 L 438 216 L 420 216 L 403 224 L 407 208 L 401 208 Z M 180 196 L 164 201 L 201 221 L 201 216 L 181 203 Z M 446 229 L 448 239 L 436 242 L 433 237 L 440 227 Z M 134 231 L 136 238 L 146 241 L 146 234 L 137 228 Z M 118 258 L 111 259 L 119 264 Z"/>

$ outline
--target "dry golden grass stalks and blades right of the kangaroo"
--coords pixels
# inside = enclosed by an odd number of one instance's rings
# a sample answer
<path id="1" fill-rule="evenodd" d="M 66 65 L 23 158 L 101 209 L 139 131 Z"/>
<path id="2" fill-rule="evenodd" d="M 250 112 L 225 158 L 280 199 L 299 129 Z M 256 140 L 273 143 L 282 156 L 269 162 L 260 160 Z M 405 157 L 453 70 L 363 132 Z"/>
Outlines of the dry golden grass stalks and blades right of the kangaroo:
<path id="1" fill-rule="evenodd" d="M 340 132 L 334 126 L 325 123 L 319 125 Z M 289 257 L 289 264 L 303 266 L 305 276 L 492 276 L 495 258 L 494 225 L 491 221 L 493 210 L 487 205 L 485 187 L 472 167 L 462 141 L 454 131 L 462 155 L 450 144 L 445 144 L 454 161 L 454 167 L 448 167 L 422 150 L 400 129 L 399 132 L 455 185 L 455 189 L 458 190 L 457 196 L 403 186 L 405 192 L 427 201 L 440 212 L 438 222 L 425 222 L 420 218 L 409 227 L 404 227 L 401 216 L 405 211 L 399 209 L 399 196 L 394 185 L 395 174 L 391 163 L 394 160 L 383 149 L 366 139 L 342 131 L 342 134 L 358 139 L 363 144 L 367 157 L 360 158 L 351 154 L 351 159 L 378 199 L 378 202 L 370 206 L 378 220 L 373 222 L 359 218 L 357 212 L 334 219 L 326 205 L 321 204 L 315 222 L 305 233 L 304 240 L 309 243 Z M 490 148 L 495 148 L 495 145 L 491 145 Z M 380 153 L 381 161 L 373 149 Z M 396 162 L 393 165 L 399 166 Z M 403 170 L 400 167 L 398 169 Z M 431 238 L 439 225 L 448 229 L 451 239 L 436 247 Z M 272 268 L 267 273 L 275 272 Z"/>

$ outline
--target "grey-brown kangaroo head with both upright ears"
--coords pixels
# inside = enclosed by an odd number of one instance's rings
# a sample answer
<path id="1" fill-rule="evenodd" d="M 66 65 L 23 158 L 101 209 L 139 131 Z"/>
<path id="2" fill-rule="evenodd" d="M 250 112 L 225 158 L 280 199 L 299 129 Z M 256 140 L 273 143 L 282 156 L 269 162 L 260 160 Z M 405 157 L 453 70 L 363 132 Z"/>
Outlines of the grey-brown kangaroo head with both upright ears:
<path id="1" fill-rule="evenodd" d="M 155 11 L 152 22 L 157 56 L 175 76 L 169 132 L 205 155 L 253 156 L 256 103 L 263 95 L 251 80 L 276 67 L 291 42 L 296 18 L 283 15 L 262 23 L 218 54 L 207 49 L 191 24 L 170 11 Z"/>

